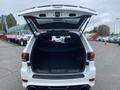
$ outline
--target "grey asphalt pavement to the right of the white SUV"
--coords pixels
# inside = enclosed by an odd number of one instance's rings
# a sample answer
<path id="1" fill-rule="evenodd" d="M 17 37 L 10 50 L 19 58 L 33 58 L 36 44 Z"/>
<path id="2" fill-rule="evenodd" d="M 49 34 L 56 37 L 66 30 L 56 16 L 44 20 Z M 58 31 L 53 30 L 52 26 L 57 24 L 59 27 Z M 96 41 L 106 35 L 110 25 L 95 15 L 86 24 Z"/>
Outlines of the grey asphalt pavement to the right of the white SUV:
<path id="1" fill-rule="evenodd" d="M 120 90 L 120 46 L 90 42 L 95 53 L 96 85 L 92 90 Z"/>

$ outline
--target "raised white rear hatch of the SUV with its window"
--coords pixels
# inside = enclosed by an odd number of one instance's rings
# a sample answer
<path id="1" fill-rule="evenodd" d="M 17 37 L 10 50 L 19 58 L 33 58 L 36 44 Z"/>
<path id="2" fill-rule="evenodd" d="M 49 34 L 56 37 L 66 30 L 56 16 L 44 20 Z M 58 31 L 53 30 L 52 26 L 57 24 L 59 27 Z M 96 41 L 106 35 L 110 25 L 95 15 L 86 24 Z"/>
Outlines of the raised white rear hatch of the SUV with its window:
<path id="1" fill-rule="evenodd" d="M 24 16 L 31 32 L 37 36 L 36 33 L 49 30 L 82 32 L 96 11 L 81 6 L 46 5 L 27 9 L 18 15 Z"/>

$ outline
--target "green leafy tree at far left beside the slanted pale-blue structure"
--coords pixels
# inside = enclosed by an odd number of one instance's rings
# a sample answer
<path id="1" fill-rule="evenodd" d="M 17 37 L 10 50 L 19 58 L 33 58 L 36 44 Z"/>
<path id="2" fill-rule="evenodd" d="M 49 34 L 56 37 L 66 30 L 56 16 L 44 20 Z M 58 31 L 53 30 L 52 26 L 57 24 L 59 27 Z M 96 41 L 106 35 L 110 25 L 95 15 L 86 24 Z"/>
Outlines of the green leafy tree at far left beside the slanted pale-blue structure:
<path id="1" fill-rule="evenodd" d="M 6 16 L 6 21 L 8 24 L 8 28 L 17 25 L 17 21 L 16 21 L 15 17 L 13 16 L 13 14 L 9 14 L 8 16 Z"/>

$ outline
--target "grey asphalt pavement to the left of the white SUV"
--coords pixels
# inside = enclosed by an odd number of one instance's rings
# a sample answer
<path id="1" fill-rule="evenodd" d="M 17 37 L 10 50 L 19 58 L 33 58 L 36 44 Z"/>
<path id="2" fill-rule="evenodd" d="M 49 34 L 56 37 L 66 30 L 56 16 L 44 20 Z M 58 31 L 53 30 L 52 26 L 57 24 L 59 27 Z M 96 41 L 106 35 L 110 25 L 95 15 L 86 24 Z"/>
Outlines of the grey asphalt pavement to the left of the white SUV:
<path id="1" fill-rule="evenodd" d="M 23 47 L 0 41 L 0 90 L 24 90 L 20 67 Z"/>

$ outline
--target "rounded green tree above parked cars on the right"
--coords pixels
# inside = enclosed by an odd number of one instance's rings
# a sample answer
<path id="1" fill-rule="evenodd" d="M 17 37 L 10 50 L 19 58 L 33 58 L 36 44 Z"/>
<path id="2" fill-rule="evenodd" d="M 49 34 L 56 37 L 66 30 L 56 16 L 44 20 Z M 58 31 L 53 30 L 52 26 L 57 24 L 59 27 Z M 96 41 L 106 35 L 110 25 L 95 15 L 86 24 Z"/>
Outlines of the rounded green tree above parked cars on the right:
<path id="1" fill-rule="evenodd" d="M 107 25 L 100 25 L 97 30 L 97 34 L 100 36 L 106 36 L 110 34 L 110 27 Z"/>

